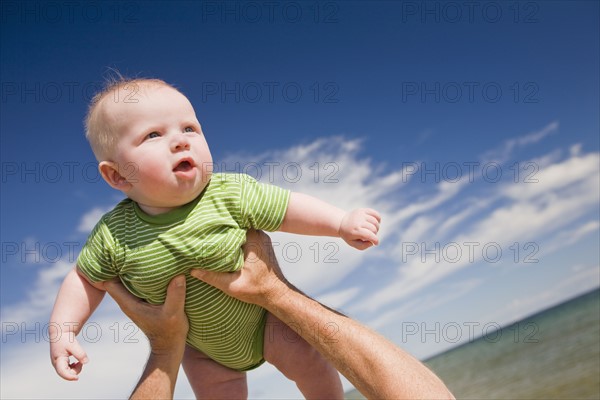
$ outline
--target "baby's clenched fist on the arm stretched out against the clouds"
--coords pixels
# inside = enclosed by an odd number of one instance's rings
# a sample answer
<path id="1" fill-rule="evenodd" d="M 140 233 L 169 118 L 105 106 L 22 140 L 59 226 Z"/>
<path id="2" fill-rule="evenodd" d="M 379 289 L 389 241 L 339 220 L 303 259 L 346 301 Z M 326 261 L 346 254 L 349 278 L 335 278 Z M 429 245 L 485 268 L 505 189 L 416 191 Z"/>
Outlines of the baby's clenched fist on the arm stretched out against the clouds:
<path id="1" fill-rule="evenodd" d="M 370 208 L 357 208 L 346 213 L 342 218 L 340 237 L 359 250 L 378 245 L 379 222 L 381 216 L 377 211 Z"/>

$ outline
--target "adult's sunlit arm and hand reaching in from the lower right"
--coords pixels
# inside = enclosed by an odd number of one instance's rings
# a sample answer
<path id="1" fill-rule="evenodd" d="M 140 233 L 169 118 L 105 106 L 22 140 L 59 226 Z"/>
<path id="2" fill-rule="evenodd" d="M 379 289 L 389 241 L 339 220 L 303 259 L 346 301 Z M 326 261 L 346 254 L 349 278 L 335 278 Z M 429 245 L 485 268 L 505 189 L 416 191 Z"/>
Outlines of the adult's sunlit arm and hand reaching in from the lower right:
<path id="1" fill-rule="evenodd" d="M 244 268 L 193 270 L 230 296 L 258 304 L 294 329 L 367 398 L 452 399 L 425 365 L 383 336 L 307 297 L 285 280 L 264 233 L 249 232 Z"/>

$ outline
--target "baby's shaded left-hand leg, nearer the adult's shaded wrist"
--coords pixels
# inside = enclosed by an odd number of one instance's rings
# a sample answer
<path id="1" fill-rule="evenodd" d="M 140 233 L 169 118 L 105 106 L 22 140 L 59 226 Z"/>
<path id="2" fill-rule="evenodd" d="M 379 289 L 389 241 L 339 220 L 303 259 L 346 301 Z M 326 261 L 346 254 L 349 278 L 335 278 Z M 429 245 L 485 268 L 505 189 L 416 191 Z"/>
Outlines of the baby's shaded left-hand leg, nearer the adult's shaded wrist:
<path id="1" fill-rule="evenodd" d="M 197 399 L 247 399 L 246 373 L 227 368 L 185 346 L 183 370 Z"/>

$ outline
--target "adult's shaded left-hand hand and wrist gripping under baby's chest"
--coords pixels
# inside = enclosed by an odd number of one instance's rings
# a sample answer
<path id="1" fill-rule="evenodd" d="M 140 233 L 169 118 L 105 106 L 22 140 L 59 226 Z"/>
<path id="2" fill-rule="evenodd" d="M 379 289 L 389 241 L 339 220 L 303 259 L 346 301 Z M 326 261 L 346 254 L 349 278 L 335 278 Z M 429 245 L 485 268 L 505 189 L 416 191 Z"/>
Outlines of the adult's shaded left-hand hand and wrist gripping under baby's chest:
<path id="1" fill-rule="evenodd" d="M 185 277 L 171 280 L 160 306 L 138 299 L 119 282 L 104 286 L 150 342 L 150 357 L 130 399 L 172 399 L 189 328 L 183 308 Z"/>

